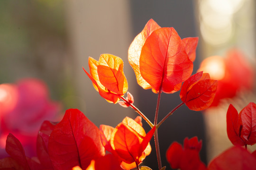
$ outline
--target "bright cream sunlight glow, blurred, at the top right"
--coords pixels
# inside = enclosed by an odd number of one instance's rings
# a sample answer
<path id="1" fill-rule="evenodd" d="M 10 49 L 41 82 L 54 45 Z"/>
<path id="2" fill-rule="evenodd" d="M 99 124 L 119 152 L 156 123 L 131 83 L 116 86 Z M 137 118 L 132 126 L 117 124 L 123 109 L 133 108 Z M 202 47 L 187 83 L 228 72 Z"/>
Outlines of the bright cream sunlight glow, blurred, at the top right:
<path id="1" fill-rule="evenodd" d="M 234 14 L 245 0 L 199 0 L 200 30 L 212 45 L 229 42 L 234 35 Z"/>

